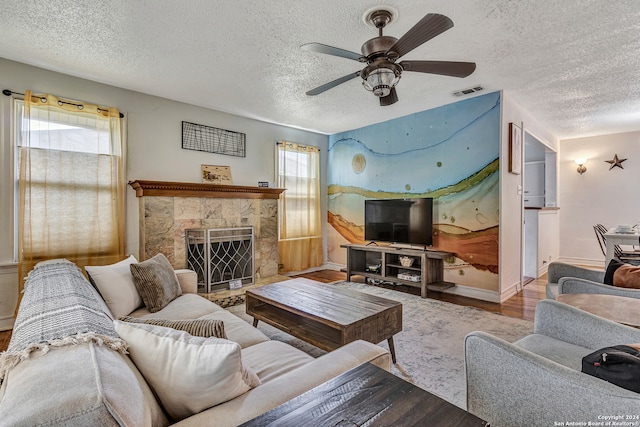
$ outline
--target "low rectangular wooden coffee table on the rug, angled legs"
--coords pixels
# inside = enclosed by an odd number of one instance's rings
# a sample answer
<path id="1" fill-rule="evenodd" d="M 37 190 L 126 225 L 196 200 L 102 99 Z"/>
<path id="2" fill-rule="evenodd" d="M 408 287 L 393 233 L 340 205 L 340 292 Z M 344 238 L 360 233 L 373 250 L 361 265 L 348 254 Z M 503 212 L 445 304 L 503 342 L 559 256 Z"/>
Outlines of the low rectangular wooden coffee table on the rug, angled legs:
<path id="1" fill-rule="evenodd" d="M 248 289 L 245 298 L 253 326 L 262 320 L 327 351 L 355 340 L 387 340 L 396 363 L 393 335 L 402 330 L 398 301 L 305 279 Z"/>

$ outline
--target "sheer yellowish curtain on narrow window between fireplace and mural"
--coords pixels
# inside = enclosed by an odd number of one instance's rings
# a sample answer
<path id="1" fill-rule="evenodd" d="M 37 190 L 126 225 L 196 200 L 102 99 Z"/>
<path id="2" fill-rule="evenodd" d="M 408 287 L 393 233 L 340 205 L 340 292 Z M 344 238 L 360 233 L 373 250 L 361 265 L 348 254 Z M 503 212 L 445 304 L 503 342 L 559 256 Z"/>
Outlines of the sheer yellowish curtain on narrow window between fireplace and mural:
<path id="1" fill-rule="evenodd" d="M 322 265 L 320 150 L 281 141 L 276 145 L 278 269 L 300 271 Z"/>

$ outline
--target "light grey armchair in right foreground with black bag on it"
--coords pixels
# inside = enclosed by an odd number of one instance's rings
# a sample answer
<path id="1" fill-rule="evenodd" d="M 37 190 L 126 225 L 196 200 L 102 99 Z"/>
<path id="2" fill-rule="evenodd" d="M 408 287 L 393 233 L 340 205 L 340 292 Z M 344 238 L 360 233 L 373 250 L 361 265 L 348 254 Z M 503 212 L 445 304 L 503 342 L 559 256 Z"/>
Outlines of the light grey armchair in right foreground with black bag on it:
<path id="1" fill-rule="evenodd" d="M 467 410 L 492 427 L 586 425 L 603 415 L 637 414 L 640 394 L 580 372 L 587 354 L 636 342 L 639 329 L 542 300 L 533 334 L 515 343 L 484 332 L 466 336 Z"/>

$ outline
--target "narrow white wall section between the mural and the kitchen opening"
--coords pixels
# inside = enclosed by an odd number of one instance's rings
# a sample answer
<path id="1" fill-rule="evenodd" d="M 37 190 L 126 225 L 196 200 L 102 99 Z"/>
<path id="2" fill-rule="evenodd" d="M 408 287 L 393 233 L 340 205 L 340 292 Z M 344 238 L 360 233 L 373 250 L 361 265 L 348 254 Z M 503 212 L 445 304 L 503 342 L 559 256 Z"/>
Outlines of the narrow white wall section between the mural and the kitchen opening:
<path id="1" fill-rule="evenodd" d="M 509 91 L 502 93 L 502 147 L 500 154 L 500 299 L 504 301 L 521 285 L 523 207 L 522 175 L 509 173 L 509 123 L 524 129 L 551 149 L 558 140 L 518 105 Z"/>

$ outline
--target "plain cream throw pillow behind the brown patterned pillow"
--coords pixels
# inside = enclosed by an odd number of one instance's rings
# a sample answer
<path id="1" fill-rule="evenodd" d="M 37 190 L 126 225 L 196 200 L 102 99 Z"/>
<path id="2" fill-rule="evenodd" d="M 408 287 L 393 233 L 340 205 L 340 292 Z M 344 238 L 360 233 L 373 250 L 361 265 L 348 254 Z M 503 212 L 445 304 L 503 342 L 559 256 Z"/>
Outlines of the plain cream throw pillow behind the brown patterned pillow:
<path id="1" fill-rule="evenodd" d="M 126 316 L 142 305 L 140 294 L 133 283 L 129 266 L 137 263 L 136 257 L 111 265 L 86 266 L 89 280 L 98 289 L 114 319 Z"/>

